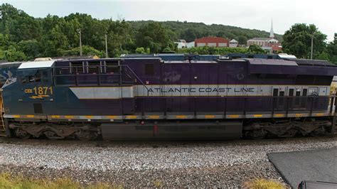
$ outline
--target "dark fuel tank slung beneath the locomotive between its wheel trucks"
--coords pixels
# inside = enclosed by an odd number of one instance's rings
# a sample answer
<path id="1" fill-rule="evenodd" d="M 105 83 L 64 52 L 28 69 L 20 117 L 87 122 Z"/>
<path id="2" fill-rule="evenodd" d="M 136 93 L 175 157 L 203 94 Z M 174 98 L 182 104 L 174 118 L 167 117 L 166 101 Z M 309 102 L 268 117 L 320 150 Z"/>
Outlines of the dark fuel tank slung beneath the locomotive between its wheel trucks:
<path id="1" fill-rule="evenodd" d="M 107 141 L 232 140 L 242 134 L 242 121 L 102 124 Z"/>

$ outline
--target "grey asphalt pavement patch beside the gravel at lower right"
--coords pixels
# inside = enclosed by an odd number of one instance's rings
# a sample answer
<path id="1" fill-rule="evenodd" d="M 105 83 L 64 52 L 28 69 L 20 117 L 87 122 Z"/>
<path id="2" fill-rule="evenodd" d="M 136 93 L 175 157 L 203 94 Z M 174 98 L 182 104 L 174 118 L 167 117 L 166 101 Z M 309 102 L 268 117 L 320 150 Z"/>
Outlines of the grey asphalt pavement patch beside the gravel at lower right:
<path id="1" fill-rule="evenodd" d="M 337 183 L 337 148 L 268 153 L 268 158 L 292 188 L 302 180 Z"/>

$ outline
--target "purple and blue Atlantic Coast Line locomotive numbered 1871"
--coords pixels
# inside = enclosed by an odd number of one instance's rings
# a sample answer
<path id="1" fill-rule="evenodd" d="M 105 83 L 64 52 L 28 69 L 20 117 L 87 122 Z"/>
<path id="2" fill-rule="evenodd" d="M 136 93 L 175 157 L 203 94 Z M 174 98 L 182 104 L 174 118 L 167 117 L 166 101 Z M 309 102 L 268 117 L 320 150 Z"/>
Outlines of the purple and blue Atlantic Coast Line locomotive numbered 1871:
<path id="1" fill-rule="evenodd" d="M 323 60 L 109 58 L 22 63 L 2 87 L 8 136 L 262 139 L 333 131 Z"/>

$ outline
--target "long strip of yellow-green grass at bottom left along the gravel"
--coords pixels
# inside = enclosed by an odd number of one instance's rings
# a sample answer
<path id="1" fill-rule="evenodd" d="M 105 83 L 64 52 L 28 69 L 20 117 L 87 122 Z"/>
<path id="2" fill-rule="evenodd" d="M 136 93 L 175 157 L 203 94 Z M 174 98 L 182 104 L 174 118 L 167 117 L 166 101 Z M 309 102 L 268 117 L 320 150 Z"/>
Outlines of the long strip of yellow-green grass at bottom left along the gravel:
<path id="1" fill-rule="evenodd" d="M 122 188 L 119 185 L 110 185 L 108 183 L 95 183 L 91 185 L 82 185 L 81 183 L 71 180 L 70 178 L 51 179 L 33 179 L 24 178 L 22 175 L 11 176 L 9 173 L 0 173 L 0 188 L 16 188 L 16 189 L 106 189 L 106 188 Z"/>

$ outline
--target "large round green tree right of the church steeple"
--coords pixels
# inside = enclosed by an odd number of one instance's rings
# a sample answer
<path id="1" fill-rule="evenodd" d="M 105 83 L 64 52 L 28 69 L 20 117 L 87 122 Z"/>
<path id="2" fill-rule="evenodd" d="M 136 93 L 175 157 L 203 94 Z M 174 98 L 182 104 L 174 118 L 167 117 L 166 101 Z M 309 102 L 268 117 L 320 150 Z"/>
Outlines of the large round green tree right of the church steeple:
<path id="1" fill-rule="evenodd" d="M 296 23 L 284 33 L 282 48 L 284 53 L 296 55 L 297 58 L 309 58 L 311 53 L 311 36 L 314 37 L 314 55 L 319 55 L 326 48 L 326 35 L 314 24 Z"/>

